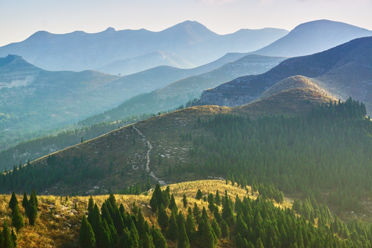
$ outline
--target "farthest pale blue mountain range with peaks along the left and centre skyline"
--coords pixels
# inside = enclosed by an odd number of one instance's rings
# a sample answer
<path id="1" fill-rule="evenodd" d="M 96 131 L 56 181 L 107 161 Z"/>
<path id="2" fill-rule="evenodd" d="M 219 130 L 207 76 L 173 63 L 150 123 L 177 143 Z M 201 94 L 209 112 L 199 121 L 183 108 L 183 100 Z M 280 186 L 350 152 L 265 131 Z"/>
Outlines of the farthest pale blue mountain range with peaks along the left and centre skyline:
<path id="1" fill-rule="evenodd" d="M 116 31 L 114 28 L 94 34 L 39 31 L 25 41 L 1 47 L 0 56 L 17 54 L 45 70 L 103 68 L 105 72 L 130 74 L 158 65 L 191 68 L 218 59 L 227 52 L 251 52 L 262 48 L 287 33 L 287 30 L 263 29 L 219 35 L 196 21 L 185 21 L 161 32 L 144 29 Z M 161 59 L 159 54 L 172 55 Z M 125 71 L 123 67 L 127 63 L 132 65 Z"/>

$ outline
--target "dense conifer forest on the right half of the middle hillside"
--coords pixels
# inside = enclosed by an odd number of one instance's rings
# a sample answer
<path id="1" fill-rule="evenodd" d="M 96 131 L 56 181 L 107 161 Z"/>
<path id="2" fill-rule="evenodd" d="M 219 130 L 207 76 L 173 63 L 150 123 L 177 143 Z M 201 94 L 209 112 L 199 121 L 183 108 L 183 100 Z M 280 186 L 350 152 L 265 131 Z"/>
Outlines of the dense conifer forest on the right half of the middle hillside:
<path id="1" fill-rule="evenodd" d="M 273 183 L 340 210 L 360 210 L 372 185 L 372 122 L 365 116 L 364 105 L 352 99 L 306 116 L 214 116 L 199 123 L 214 135 L 194 138 L 184 169 L 243 186 Z"/>

